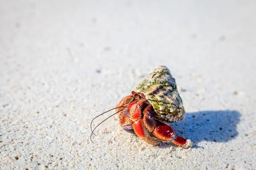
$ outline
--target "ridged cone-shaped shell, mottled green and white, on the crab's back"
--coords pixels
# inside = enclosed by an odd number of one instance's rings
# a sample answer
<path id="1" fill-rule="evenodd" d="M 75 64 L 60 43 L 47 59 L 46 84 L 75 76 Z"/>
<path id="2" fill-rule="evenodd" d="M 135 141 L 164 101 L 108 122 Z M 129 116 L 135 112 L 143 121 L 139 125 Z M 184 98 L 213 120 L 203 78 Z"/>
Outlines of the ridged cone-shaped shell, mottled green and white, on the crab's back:
<path id="1" fill-rule="evenodd" d="M 157 66 L 147 74 L 137 85 L 136 92 L 143 93 L 153 105 L 157 119 L 180 122 L 185 118 L 185 109 L 175 78 L 166 66 Z"/>

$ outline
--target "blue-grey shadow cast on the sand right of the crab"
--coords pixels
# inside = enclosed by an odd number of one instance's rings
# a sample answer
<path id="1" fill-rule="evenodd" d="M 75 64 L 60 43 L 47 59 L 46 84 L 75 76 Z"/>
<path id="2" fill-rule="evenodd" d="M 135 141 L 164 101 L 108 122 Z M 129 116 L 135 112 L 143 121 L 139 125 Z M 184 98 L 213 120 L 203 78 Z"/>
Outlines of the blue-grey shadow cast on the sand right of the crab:
<path id="1" fill-rule="evenodd" d="M 170 125 L 176 135 L 192 142 L 228 142 L 238 136 L 237 124 L 241 113 L 238 111 L 200 111 L 186 113 L 186 118 Z"/>

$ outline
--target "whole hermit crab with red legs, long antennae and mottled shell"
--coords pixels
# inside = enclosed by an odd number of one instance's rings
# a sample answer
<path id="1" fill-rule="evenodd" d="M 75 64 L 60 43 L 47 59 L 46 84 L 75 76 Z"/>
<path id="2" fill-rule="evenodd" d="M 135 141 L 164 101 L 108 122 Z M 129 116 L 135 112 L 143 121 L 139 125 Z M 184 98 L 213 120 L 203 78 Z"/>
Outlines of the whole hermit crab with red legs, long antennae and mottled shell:
<path id="1" fill-rule="evenodd" d="M 116 109 L 123 129 L 134 130 L 140 139 L 149 144 L 158 145 L 170 141 L 183 147 L 191 145 L 190 140 L 181 136 L 175 138 L 174 130 L 167 124 L 182 121 L 185 118 L 185 110 L 175 79 L 166 66 L 157 66 L 147 74 L 137 85 L 136 90 L 132 91 L 131 95 L 123 97 L 113 109 Z"/>

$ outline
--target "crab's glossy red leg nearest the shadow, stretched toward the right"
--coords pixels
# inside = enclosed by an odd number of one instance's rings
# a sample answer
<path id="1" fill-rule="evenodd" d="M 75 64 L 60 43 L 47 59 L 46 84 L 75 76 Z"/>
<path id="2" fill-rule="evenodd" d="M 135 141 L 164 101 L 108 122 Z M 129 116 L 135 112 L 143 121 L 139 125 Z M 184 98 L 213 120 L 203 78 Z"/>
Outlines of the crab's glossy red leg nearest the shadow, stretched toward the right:
<path id="1" fill-rule="evenodd" d="M 171 126 L 155 119 L 156 113 L 152 105 L 149 105 L 143 111 L 143 122 L 148 132 L 162 141 L 171 141 L 178 146 L 185 146 L 186 139 L 177 136 L 175 139 L 175 132 Z"/>

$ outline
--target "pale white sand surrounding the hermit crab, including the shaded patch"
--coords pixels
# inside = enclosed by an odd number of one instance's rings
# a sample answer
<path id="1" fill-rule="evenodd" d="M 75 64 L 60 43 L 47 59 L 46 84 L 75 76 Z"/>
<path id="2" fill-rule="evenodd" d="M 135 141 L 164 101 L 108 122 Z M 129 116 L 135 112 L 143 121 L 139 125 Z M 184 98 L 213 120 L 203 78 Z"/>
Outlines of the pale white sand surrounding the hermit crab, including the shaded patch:
<path id="1" fill-rule="evenodd" d="M 215 3 L 213 3 L 215 2 Z M 0 169 L 255 169 L 256 1 L 0 1 Z M 189 149 L 90 121 L 166 65 Z M 99 117 L 97 125 L 113 114 Z"/>

